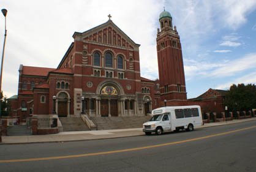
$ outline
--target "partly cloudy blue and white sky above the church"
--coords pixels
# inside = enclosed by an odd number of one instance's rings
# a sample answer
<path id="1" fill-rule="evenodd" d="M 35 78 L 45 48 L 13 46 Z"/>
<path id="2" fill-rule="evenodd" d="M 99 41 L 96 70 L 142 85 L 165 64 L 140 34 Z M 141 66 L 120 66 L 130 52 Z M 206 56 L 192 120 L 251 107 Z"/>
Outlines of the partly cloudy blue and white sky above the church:
<path id="1" fill-rule="evenodd" d="M 4 95 L 17 94 L 20 64 L 58 67 L 73 32 L 107 22 L 108 14 L 141 45 L 141 77 L 156 80 L 156 34 L 164 7 L 181 39 L 188 99 L 209 88 L 256 84 L 256 0 L 0 0 L 0 8 L 8 10 Z M 1 14 L 1 54 L 3 42 Z"/>

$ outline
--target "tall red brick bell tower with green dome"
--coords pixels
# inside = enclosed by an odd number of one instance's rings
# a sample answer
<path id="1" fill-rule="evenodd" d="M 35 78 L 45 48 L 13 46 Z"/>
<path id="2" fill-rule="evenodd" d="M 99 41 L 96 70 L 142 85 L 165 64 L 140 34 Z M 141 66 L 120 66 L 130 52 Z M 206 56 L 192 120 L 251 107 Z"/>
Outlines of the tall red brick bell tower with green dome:
<path id="1" fill-rule="evenodd" d="M 161 100 L 187 100 L 183 54 L 176 26 L 173 28 L 171 14 L 164 10 L 159 15 L 157 28 L 157 60 Z"/>

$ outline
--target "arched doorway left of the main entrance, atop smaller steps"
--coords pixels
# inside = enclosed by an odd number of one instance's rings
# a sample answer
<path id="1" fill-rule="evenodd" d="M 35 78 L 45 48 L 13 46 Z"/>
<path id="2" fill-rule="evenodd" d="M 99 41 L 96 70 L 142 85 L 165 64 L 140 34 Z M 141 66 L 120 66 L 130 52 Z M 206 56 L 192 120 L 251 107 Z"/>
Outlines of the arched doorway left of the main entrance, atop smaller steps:
<path id="1" fill-rule="evenodd" d="M 58 116 L 67 117 L 67 99 L 68 95 L 66 92 L 59 93 L 58 97 Z"/>

